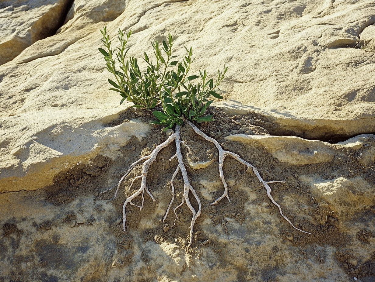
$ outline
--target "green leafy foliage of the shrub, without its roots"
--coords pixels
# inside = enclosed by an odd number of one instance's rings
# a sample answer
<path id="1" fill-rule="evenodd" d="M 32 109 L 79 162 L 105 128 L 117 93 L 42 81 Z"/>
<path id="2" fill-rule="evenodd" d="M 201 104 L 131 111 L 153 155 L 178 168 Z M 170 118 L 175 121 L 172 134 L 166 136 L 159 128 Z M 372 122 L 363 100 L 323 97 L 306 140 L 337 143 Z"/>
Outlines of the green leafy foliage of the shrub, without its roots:
<path id="1" fill-rule="evenodd" d="M 205 70 L 199 71 L 199 76 L 188 75 L 193 61 L 193 49 L 186 49 L 186 55 L 181 61 L 175 60 L 177 56 L 172 55 L 173 37 L 168 35 L 166 40 L 153 42 L 153 53 L 156 63 L 150 60 L 144 52 L 143 60 L 146 63 L 146 70 L 141 71 L 135 57 L 126 55 L 129 48 L 126 48 L 127 40 L 132 34 L 131 31 L 124 34 L 118 31 L 118 41 L 120 47 L 113 49 L 112 41 L 107 34 L 107 28 L 101 30 L 102 42 L 105 49 L 99 48 L 99 52 L 104 56 L 107 70 L 111 72 L 115 79 L 108 82 L 113 86 L 110 90 L 118 92 L 123 103 L 124 100 L 131 101 L 136 108 L 151 110 L 156 106 L 161 106 L 162 111 L 154 110 L 153 114 L 157 118 L 154 124 L 172 128 L 174 125 L 182 125 L 183 119 L 190 121 L 204 122 L 212 121 L 212 115 L 204 116 L 207 107 L 213 102 L 211 96 L 222 99 L 218 93 L 219 85 L 223 81 L 227 67 L 224 70 L 217 70 L 215 80 L 207 78 Z M 120 69 L 116 69 L 119 65 Z M 194 82 L 200 78 L 198 83 Z M 217 89 L 217 90 L 216 90 Z"/>

